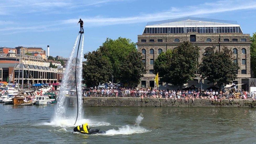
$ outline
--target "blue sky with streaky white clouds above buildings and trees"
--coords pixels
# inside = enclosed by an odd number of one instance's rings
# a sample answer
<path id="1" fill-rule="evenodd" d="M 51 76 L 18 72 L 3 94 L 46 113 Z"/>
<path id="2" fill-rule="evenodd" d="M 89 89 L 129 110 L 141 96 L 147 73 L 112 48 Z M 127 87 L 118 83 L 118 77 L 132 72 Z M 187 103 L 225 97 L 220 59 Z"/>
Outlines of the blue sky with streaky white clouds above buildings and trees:
<path id="1" fill-rule="evenodd" d="M 79 18 L 86 53 L 106 38 L 137 42 L 147 22 L 187 16 L 237 21 L 244 34 L 256 32 L 256 1 L 0 0 L 0 47 L 50 45 L 51 56 L 68 57 Z"/>

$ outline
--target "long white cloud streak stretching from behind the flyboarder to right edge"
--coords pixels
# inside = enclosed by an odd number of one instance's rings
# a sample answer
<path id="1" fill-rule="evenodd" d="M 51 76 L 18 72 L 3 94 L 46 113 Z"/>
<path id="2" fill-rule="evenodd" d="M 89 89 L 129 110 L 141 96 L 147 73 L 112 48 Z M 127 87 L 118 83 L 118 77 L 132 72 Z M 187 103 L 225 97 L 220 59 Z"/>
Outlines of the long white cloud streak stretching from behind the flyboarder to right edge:
<path id="1" fill-rule="evenodd" d="M 120 18 L 104 18 L 101 16 L 84 17 L 83 21 L 87 26 L 103 26 L 114 24 L 130 24 L 141 23 L 155 20 L 163 20 L 170 18 L 186 17 L 191 15 L 203 15 L 211 13 L 221 13 L 233 10 L 255 9 L 256 2 L 249 1 L 238 3 L 236 1 L 217 1 L 215 3 L 203 3 L 198 6 L 189 6 L 183 8 L 172 7 L 170 10 L 159 13 L 141 14 L 140 16 L 133 17 L 120 17 Z M 231 18 L 235 19 L 235 18 Z M 77 23 L 77 19 L 63 20 L 64 24 Z"/>

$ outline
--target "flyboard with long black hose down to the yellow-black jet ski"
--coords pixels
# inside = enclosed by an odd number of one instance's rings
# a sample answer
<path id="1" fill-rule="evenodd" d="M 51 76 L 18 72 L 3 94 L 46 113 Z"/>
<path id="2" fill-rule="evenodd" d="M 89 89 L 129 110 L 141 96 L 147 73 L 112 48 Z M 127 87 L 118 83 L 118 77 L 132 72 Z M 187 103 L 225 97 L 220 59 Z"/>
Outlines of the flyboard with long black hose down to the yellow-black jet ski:
<path id="1" fill-rule="evenodd" d="M 82 34 L 84 34 L 83 31 L 79 31 L 79 34 L 80 34 L 80 39 L 79 39 L 79 44 L 78 44 L 78 48 L 77 48 L 77 54 L 76 54 L 76 68 L 75 68 L 75 83 L 76 83 L 76 91 L 77 91 L 77 80 L 76 80 L 76 69 L 77 69 L 77 57 L 78 57 L 78 51 L 79 51 L 79 46 L 80 46 L 80 42 L 81 42 L 81 37 L 82 37 Z M 76 115 L 76 121 L 74 123 L 74 125 L 76 125 L 76 122 L 77 122 L 77 118 L 78 118 L 78 93 L 76 93 L 76 99 L 77 99 L 77 115 Z M 82 124 L 82 125 L 79 125 L 79 126 L 76 126 L 74 127 L 74 132 L 80 132 L 82 134 L 104 134 L 105 131 L 99 131 L 100 129 L 95 129 L 95 130 L 92 130 L 88 124 Z"/>

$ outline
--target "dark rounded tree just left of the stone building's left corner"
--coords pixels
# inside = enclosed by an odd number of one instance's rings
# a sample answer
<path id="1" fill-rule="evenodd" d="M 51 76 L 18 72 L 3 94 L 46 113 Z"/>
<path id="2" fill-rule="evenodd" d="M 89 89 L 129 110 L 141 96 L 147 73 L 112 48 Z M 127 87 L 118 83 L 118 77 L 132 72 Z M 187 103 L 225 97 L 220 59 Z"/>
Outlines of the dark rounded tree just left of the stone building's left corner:
<path id="1" fill-rule="evenodd" d="M 145 65 L 141 61 L 141 54 L 137 51 L 130 52 L 122 61 L 120 71 L 122 74 L 119 81 L 126 87 L 137 87 L 140 83 L 140 78 L 145 73 Z"/>

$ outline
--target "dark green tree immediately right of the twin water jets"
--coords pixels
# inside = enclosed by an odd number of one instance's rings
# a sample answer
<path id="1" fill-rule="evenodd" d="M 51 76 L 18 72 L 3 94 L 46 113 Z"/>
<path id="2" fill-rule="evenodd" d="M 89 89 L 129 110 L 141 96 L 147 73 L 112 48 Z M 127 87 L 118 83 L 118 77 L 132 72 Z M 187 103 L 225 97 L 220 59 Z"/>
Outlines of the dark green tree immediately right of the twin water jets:
<path id="1" fill-rule="evenodd" d="M 85 54 L 84 58 L 87 59 L 87 62 L 86 65 L 83 65 L 83 79 L 88 87 L 109 81 L 113 69 L 108 57 L 97 50 Z"/>

